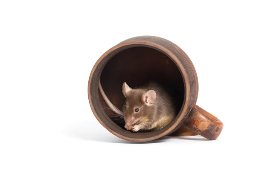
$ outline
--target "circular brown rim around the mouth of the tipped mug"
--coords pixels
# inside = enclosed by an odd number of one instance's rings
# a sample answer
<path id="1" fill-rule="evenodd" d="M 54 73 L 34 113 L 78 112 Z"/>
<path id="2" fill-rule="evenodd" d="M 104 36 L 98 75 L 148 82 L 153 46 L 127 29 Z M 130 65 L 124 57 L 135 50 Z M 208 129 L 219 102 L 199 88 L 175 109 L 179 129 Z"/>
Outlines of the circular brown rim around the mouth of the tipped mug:
<path id="1" fill-rule="evenodd" d="M 140 45 L 143 45 L 143 46 L 146 46 L 148 48 L 153 48 L 155 50 L 158 50 L 158 51 L 162 52 L 163 54 L 166 54 L 166 56 L 169 57 L 170 59 L 172 59 L 172 61 L 175 63 L 175 65 L 179 69 L 180 74 L 183 78 L 184 99 L 183 99 L 182 107 L 180 108 L 181 112 L 179 112 L 177 114 L 177 116 L 175 117 L 175 120 L 174 120 L 175 122 L 168 129 L 166 129 L 162 133 L 159 133 L 156 136 L 146 137 L 146 138 L 132 138 L 132 137 L 124 136 L 120 133 L 117 133 L 116 131 L 111 130 L 107 125 L 105 125 L 105 123 L 99 118 L 99 116 L 96 113 L 96 110 L 93 107 L 93 103 L 92 103 L 92 99 L 91 99 L 91 93 L 90 93 L 90 90 L 91 90 L 91 85 L 90 84 L 91 84 L 91 80 L 92 80 L 93 74 L 95 73 L 96 68 L 99 66 L 99 63 L 101 63 L 102 59 L 107 57 L 111 52 L 116 51 L 119 48 L 129 46 L 129 45 L 135 45 L 134 47 L 139 47 Z M 104 66 L 105 65 L 103 65 L 103 66 L 101 65 L 102 68 L 104 68 Z M 97 87 L 98 87 L 98 85 L 97 85 Z M 135 40 L 135 41 L 131 40 L 131 41 L 128 41 L 128 42 L 120 42 L 119 44 L 113 46 L 108 51 L 106 51 L 104 54 L 102 54 L 102 56 L 97 60 L 97 62 L 93 66 L 93 69 L 91 70 L 87 90 L 88 90 L 87 92 L 88 92 L 88 99 L 89 99 L 89 103 L 90 103 L 90 108 L 93 111 L 93 114 L 96 117 L 96 119 L 99 121 L 99 123 L 103 127 L 105 127 L 109 132 L 111 132 L 113 135 L 115 135 L 115 136 L 117 136 L 121 139 L 134 141 L 134 142 L 148 142 L 148 141 L 152 141 L 152 140 L 155 140 L 155 139 L 159 139 L 163 136 L 168 135 L 171 132 L 174 132 L 175 130 L 177 130 L 183 124 L 183 122 L 186 118 L 186 115 L 189 113 L 189 110 L 191 109 L 191 108 L 189 108 L 189 100 L 190 100 L 189 78 L 188 78 L 186 70 L 183 67 L 183 65 L 181 64 L 180 60 L 175 56 L 175 54 L 173 54 L 171 51 L 169 51 L 167 48 L 163 47 L 162 45 L 159 45 L 157 43 L 150 42 L 150 41 L 145 41 L 145 40 Z"/>

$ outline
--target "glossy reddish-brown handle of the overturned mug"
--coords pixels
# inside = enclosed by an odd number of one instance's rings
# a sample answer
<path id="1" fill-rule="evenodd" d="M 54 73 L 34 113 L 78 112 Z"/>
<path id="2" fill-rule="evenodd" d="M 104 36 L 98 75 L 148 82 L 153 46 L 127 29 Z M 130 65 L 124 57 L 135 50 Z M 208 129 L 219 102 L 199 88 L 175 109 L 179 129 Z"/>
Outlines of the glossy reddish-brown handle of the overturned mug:
<path id="1" fill-rule="evenodd" d="M 195 105 L 184 125 L 207 139 L 215 140 L 221 134 L 223 123 L 215 116 Z"/>

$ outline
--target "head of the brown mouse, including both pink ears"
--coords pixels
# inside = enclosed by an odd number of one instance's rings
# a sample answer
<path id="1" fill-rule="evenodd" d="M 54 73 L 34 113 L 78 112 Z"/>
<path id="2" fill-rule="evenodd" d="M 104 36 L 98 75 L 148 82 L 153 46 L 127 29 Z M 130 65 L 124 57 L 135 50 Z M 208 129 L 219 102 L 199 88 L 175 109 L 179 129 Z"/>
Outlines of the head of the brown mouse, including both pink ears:
<path id="1" fill-rule="evenodd" d="M 157 94 L 153 90 L 133 89 L 126 82 L 122 86 L 122 93 L 126 98 L 125 125 L 148 122 L 154 111 Z"/>

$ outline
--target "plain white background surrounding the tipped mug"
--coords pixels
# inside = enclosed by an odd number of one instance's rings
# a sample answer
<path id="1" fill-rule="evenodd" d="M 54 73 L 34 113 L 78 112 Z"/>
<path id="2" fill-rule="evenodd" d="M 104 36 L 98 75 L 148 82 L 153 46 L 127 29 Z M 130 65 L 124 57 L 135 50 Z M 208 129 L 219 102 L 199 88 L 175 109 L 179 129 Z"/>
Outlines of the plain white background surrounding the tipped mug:
<path id="1" fill-rule="evenodd" d="M 255 169 L 255 21 L 253 1 L 2 0 L 0 169 Z M 197 105 L 224 122 L 217 140 L 133 143 L 96 120 L 93 65 L 140 35 L 188 54 Z"/>

